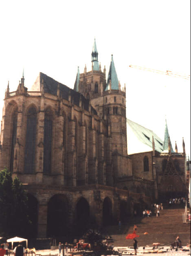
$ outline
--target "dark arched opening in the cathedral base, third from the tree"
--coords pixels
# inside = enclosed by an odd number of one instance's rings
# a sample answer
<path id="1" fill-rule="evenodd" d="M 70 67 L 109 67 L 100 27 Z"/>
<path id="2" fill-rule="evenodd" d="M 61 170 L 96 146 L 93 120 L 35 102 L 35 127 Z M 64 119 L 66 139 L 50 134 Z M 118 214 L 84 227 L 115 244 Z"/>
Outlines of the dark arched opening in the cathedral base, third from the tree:
<path id="1" fill-rule="evenodd" d="M 75 207 L 75 234 L 82 235 L 90 226 L 90 206 L 88 201 L 81 197 Z"/>

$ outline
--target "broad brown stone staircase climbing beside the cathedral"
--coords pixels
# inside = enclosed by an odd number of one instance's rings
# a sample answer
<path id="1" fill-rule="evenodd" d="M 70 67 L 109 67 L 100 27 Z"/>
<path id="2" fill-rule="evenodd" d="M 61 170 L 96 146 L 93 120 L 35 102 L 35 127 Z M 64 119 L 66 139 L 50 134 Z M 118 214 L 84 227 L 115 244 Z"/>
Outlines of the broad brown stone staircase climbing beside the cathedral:
<path id="1" fill-rule="evenodd" d="M 184 213 L 183 205 L 164 204 L 163 210 L 160 210 L 160 217 L 152 214 L 151 217 L 130 219 L 127 224 L 121 225 L 121 231 L 118 226 L 109 226 L 105 229 L 106 234 L 110 234 L 116 246 L 132 246 L 133 241 L 125 239 L 126 235 L 133 233 L 133 226 L 137 226 L 137 237 L 139 246 L 152 245 L 170 245 L 177 237 L 180 236 L 182 245 L 186 245 L 190 240 L 190 222 L 183 223 L 182 214 Z M 188 209 L 189 210 L 189 209 Z M 148 234 L 144 234 L 147 232 Z"/>

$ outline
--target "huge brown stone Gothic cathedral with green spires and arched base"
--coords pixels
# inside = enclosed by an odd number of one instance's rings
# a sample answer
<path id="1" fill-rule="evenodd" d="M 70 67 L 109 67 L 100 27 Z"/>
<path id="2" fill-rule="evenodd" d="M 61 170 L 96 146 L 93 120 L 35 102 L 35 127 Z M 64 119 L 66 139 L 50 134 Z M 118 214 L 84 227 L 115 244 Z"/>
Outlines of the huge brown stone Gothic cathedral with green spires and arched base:
<path id="1" fill-rule="evenodd" d="M 0 170 L 28 193 L 33 237 L 125 223 L 135 210 L 187 192 L 184 140 L 183 152 L 173 151 L 167 123 L 162 141 L 127 119 L 113 56 L 106 79 L 95 40 L 91 55 L 91 71 L 78 68 L 73 90 L 40 73 L 30 90 L 23 74 L 5 92 Z M 128 154 L 133 139 L 140 146 Z"/>

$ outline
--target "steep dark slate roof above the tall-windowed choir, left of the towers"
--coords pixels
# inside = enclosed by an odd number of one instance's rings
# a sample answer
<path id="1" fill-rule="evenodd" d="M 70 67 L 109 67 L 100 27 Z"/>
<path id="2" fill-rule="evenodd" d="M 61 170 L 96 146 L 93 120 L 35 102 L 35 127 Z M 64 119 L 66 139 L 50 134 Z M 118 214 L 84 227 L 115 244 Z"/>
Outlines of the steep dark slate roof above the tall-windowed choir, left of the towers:
<path id="1" fill-rule="evenodd" d="M 75 90 L 70 89 L 68 86 L 61 84 L 57 82 L 55 79 L 49 77 L 48 75 L 45 75 L 44 73 L 40 72 L 38 75 L 35 83 L 33 84 L 31 91 L 42 91 L 42 82 L 44 85 L 44 92 L 49 93 L 52 95 L 57 95 L 57 88 L 59 86 L 60 91 L 60 97 L 62 99 L 68 100 L 69 93 L 71 95 L 71 101 L 74 102 L 75 105 L 79 106 L 79 100 L 81 97 L 81 103 L 83 105 L 83 108 L 86 111 L 89 111 L 89 100 L 86 99 L 83 95 L 76 92 Z M 97 115 L 96 110 L 94 110 L 94 114 Z"/>

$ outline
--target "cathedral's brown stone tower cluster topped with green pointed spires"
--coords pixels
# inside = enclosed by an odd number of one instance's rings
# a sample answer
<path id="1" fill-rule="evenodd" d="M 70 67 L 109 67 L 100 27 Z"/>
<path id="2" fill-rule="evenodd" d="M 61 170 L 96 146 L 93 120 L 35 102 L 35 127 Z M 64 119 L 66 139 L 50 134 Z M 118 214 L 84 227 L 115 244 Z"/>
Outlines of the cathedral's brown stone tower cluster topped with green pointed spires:
<path id="1" fill-rule="evenodd" d="M 110 172 L 107 177 L 110 176 L 110 180 L 107 183 L 115 185 L 119 178 L 131 175 L 130 160 L 127 157 L 125 86 L 121 88 L 113 55 L 106 82 L 106 69 L 104 66 L 103 72 L 101 71 L 95 40 L 91 55 L 92 70 L 87 72 L 85 66 L 84 73 L 79 74 L 78 71 L 74 89 L 90 100 L 90 104 L 108 127 L 108 146 L 105 154 L 109 166 L 107 172 Z"/>

